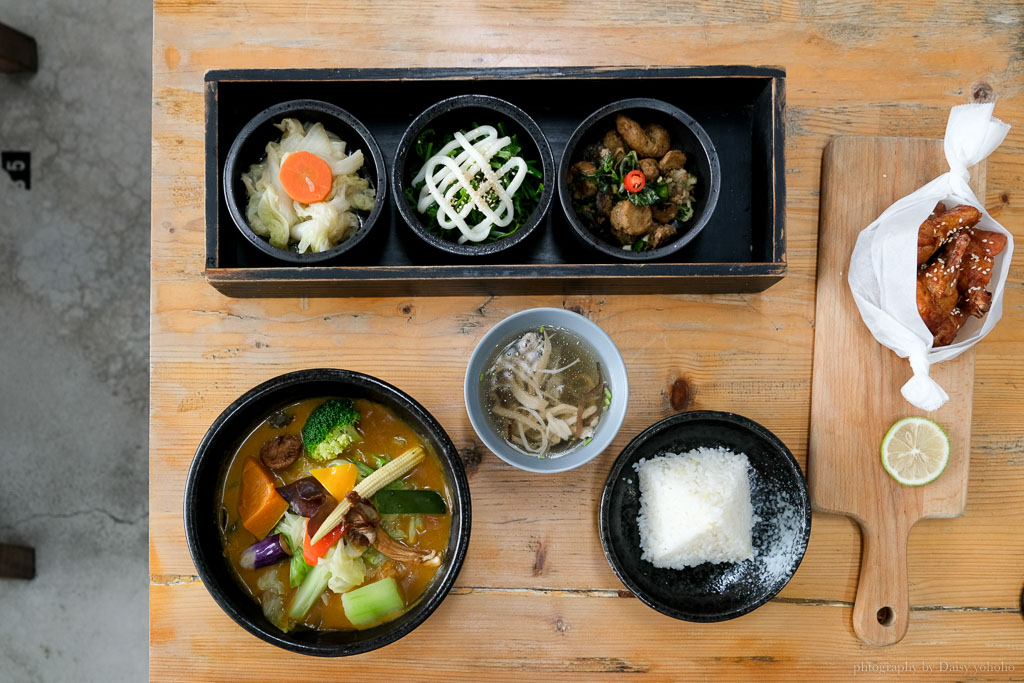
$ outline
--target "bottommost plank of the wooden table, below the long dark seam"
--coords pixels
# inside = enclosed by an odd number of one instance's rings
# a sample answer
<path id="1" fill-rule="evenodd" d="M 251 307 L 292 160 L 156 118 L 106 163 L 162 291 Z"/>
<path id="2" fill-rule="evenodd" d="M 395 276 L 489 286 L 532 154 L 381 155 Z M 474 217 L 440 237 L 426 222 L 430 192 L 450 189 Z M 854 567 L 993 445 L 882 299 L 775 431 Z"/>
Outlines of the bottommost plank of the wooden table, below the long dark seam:
<path id="1" fill-rule="evenodd" d="M 253 683 L 289 680 L 310 668 L 326 680 L 390 679 L 404 671 L 416 681 L 595 681 L 623 675 L 680 681 L 695 679 L 697 671 L 715 681 L 759 680 L 759 671 L 790 680 L 843 681 L 892 677 L 896 667 L 908 676 L 931 667 L 928 680 L 943 681 L 966 678 L 967 672 L 951 671 L 953 665 L 967 666 L 978 678 L 992 677 L 974 669 L 986 663 L 990 669 L 1000 663 L 1015 667 L 993 672 L 999 678 L 1021 671 L 1012 645 L 1020 615 L 1011 610 L 915 612 L 921 625 L 914 634 L 880 654 L 864 651 L 849 633 L 847 604 L 770 602 L 732 622 L 701 625 L 672 620 L 633 597 L 467 588 L 387 648 L 310 661 L 237 628 L 201 584 L 157 587 L 151 601 L 154 611 L 167 615 L 151 630 L 151 669 L 175 681 L 238 681 L 239 670 L 222 666 L 225 652 L 245 652 L 245 680 Z M 189 621 L 208 628 L 183 629 Z M 610 641 L 624 645 L 609 648 Z"/>

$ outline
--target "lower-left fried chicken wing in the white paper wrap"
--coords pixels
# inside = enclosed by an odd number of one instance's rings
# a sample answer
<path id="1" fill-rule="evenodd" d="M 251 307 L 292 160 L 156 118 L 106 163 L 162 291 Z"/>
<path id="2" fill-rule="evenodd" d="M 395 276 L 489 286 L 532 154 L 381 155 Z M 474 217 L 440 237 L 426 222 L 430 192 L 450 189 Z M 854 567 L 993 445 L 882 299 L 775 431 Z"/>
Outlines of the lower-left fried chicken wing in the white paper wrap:
<path id="1" fill-rule="evenodd" d="M 970 243 L 967 231 L 957 232 L 938 258 L 918 275 L 918 312 L 935 338 L 934 346 L 952 343 L 967 319 L 957 306 L 956 285 Z"/>

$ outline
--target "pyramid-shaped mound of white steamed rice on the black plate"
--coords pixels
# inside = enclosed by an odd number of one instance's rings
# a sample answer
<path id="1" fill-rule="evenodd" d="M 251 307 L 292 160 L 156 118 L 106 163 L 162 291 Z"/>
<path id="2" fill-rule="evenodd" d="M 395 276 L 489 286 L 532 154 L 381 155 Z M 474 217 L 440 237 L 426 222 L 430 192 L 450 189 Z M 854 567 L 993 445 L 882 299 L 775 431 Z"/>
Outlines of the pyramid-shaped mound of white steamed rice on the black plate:
<path id="1" fill-rule="evenodd" d="M 642 559 L 683 569 L 754 557 L 745 455 L 699 447 L 644 459 L 633 467 L 640 479 Z"/>

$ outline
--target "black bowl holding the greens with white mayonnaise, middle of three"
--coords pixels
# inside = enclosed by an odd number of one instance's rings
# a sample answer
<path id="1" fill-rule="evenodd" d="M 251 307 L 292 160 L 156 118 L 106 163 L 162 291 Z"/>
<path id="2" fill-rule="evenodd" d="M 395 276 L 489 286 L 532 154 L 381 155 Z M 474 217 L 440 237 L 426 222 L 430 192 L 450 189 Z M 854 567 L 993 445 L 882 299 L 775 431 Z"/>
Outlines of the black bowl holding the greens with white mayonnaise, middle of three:
<path id="1" fill-rule="evenodd" d="M 469 128 L 474 123 L 483 126 L 494 125 L 499 121 L 504 122 L 505 130 L 509 135 L 518 135 L 519 143 L 522 145 L 523 159 L 536 159 L 541 162 L 544 172 L 544 190 L 541 193 L 541 200 L 538 202 L 537 208 L 534 209 L 529 220 L 509 237 L 487 244 L 466 243 L 460 245 L 431 232 L 427 229 L 420 213 L 410 206 L 406 199 L 406 187 L 410 185 L 413 177 L 420 170 L 420 160 L 415 153 L 412 153 L 416 145 L 416 139 L 420 133 L 428 128 L 433 128 L 438 134 L 443 135 L 445 132 Z M 548 213 L 548 208 L 554 197 L 551 183 L 554 172 L 555 162 L 551 156 L 548 138 L 544 136 L 541 127 L 525 112 L 515 104 L 489 95 L 458 95 L 442 99 L 427 108 L 406 129 L 398 142 L 394 163 L 391 165 L 391 184 L 394 187 L 394 202 L 398 206 L 398 213 L 401 214 L 401 217 L 413 228 L 418 238 L 450 254 L 486 256 L 511 249 L 522 243 L 529 237 L 530 232 L 537 229 Z"/>

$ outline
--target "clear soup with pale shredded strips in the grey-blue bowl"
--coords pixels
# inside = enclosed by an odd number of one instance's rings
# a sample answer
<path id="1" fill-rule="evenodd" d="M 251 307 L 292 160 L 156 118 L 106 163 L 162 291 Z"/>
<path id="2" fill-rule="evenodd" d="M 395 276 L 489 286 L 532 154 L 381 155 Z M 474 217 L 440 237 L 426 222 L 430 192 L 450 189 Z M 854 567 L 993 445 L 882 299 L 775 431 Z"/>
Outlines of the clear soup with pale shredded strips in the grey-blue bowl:
<path id="1" fill-rule="evenodd" d="M 558 458 L 587 443 L 611 400 L 581 337 L 542 326 L 503 343 L 480 376 L 487 421 L 513 449 Z"/>

